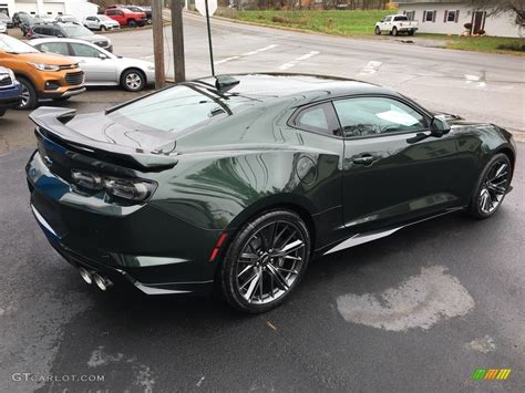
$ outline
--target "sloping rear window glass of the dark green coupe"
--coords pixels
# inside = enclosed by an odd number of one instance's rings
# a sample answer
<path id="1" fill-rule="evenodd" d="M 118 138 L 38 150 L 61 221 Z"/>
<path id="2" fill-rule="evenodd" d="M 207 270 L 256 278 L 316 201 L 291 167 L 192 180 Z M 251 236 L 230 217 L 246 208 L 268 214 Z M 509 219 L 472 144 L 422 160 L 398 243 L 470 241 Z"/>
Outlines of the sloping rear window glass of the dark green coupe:
<path id="1" fill-rule="evenodd" d="M 225 100 L 193 85 L 177 85 L 122 106 L 110 112 L 109 116 L 116 122 L 131 121 L 135 128 L 146 126 L 181 132 L 212 121 L 213 117 L 231 114 L 234 107 L 246 101 L 240 96 Z"/>

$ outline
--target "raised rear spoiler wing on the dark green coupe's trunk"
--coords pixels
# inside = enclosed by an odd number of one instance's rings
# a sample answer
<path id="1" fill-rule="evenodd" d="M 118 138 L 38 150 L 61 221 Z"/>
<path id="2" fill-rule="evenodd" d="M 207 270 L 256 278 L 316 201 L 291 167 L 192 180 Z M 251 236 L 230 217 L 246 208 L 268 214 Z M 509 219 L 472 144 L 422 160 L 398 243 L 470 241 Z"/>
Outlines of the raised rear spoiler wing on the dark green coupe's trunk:
<path id="1" fill-rule="evenodd" d="M 178 159 L 163 149 L 146 152 L 140 148 L 123 146 L 92 139 L 66 125 L 76 111 L 42 106 L 33 111 L 29 118 L 38 126 L 38 132 L 68 147 L 83 154 L 114 157 L 127 166 L 144 172 L 159 172 L 174 167 Z M 161 147 L 161 146 L 159 146 Z M 173 148 L 171 149 L 173 152 Z"/>

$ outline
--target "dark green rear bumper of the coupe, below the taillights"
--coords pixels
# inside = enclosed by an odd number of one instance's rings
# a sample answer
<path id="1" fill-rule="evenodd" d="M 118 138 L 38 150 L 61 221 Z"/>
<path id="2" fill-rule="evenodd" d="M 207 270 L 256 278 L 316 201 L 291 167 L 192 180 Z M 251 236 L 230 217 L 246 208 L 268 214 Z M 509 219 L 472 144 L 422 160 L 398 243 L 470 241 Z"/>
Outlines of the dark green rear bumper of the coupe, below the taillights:
<path id="1" fill-rule="evenodd" d="M 208 256 L 218 231 L 196 228 L 148 205 L 103 206 L 103 199 L 73 193 L 39 153 L 25 169 L 33 215 L 71 265 L 146 294 L 213 290 L 217 262 Z"/>

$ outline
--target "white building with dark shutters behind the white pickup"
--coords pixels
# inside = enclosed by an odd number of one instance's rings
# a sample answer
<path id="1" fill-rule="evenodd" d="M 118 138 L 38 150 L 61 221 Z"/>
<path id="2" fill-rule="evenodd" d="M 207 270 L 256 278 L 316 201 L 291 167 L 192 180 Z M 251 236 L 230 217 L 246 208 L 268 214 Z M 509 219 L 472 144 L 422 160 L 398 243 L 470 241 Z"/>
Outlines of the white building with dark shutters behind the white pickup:
<path id="1" fill-rule="evenodd" d="M 1 0 L 0 0 L 1 1 Z M 398 0 L 400 13 L 420 22 L 420 32 L 461 34 L 463 24 L 472 23 L 472 33 L 485 31 L 487 35 L 521 37 L 523 25 L 516 23 L 516 14 L 507 12 L 488 17 L 475 10 L 469 1 L 459 0 Z"/>

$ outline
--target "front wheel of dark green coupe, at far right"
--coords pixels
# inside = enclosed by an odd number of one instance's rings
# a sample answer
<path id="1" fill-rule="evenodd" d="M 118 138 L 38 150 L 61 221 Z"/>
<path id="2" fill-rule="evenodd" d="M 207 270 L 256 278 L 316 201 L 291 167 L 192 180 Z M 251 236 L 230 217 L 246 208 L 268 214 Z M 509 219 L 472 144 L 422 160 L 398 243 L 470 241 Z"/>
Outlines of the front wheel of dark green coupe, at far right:
<path id="1" fill-rule="evenodd" d="M 504 169 L 504 172 L 502 172 L 498 177 L 495 177 L 494 179 L 490 180 L 492 177 L 494 177 L 494 175 L 497 174 L 498 168 L 501 168 L 502 166 L 506 166 L 506 169 Z M 480 178 L 477 179 L 476 188 L 469 206 L 469 214 L 477 219 L 484 219 L 494 216 L 502 206 L 503 199 L 505 198 L 508 187 L 511 186 L 511 176 L 512 164 L 508 156 L 506 154 L 498 153 L 494 157 L 492 157 L 488 163 L 486 163 L 480 175 Z M 505 180 L 504 184 L 502 184 L 503 180 Z M 491 185 L 496 185 L 501 187 L 501 189 L 496 192 L 491 188 Z M 491 198 L 491 208 L 494 207 L 494 204 L 497 203 L 496 206 L 490 211 L 484 208 L 484 206 L 487 207 L 487 205 L 484 204 L 484 194 L 487 193 Z"/>

